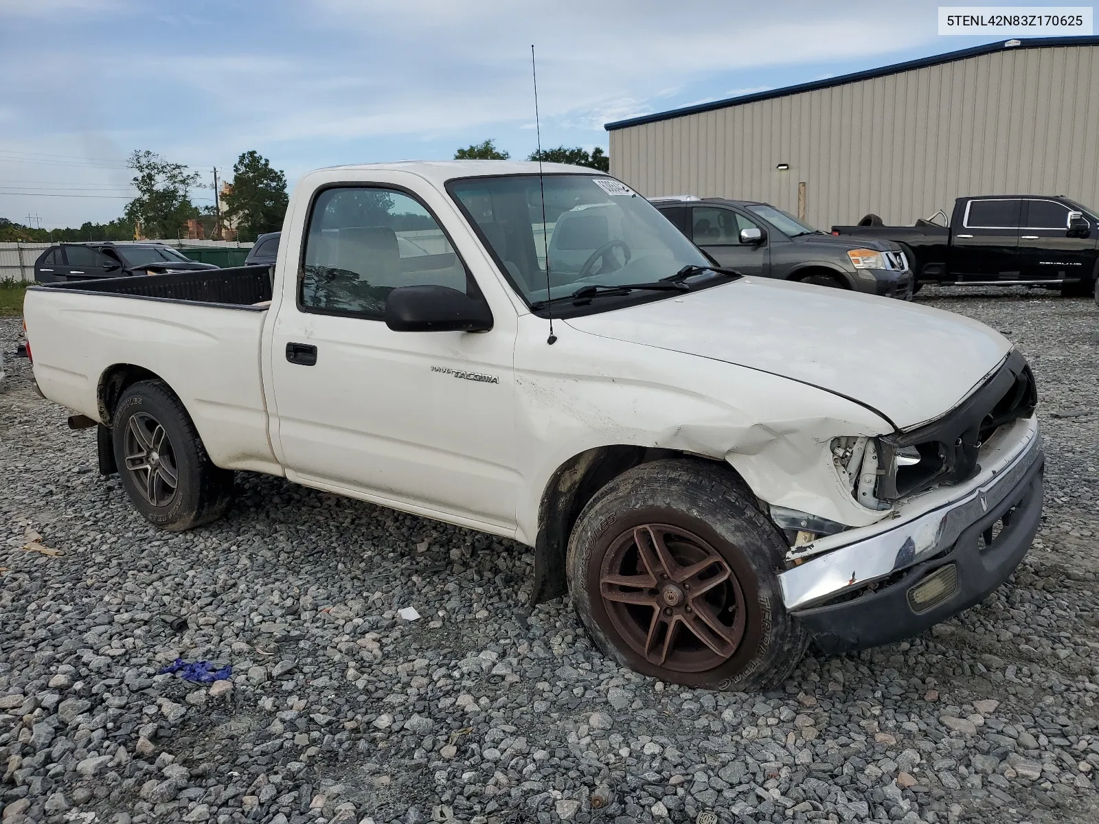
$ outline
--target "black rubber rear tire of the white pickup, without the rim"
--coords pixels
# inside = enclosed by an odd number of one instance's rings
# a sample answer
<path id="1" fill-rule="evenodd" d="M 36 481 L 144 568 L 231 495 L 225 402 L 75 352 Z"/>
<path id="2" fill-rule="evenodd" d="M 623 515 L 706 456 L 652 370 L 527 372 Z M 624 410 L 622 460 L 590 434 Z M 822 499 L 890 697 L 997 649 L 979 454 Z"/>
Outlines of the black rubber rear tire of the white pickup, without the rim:
<path id="1" fill-rule="evenodd" d="M 154 505 L 126 468 L 126 431 L 131 419 L 144 415 L 164 427 L 174 456 L 177 486 L 170 500 Z M 145 519 L 162 530 L 184 532 L 217 521 L 233 503 L 233 471 L 213 465 L 182 402 L 160 380 L 130 386 L 111 421 L 114 460 L 122 486 Z"/>

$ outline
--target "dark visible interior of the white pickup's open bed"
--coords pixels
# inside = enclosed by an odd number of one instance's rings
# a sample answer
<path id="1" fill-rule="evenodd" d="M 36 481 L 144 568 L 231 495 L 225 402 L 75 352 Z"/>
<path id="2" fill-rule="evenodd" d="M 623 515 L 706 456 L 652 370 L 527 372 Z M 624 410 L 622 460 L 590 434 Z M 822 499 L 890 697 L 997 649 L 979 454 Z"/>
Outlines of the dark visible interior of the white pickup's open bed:
<path id="1" fill-rule="evenodd" d="M 168 275 L 70 280 L 44 285 L 42 288 L 147 300 L 212 303 L 234 309 L 262 309 L 255 304 L 271 299 L 271 274 L 268 266 L 237 266 L 232 269 L 177 271 Z"/>

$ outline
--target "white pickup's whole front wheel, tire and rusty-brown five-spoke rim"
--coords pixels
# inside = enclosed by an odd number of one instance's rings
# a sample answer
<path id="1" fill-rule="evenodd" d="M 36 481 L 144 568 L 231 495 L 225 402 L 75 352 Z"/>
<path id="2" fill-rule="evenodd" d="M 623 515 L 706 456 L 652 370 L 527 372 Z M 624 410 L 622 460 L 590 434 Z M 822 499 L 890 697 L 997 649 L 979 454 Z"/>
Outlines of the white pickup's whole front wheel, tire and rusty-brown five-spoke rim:
<path id="1" fill-rule="evenodd" d="M 786 543 L 732 470 L 659 460 L 601 489 L 569 539 L 569 592 L 602 652 L 664 681 L 764 690 L 808 632 L 781 600 Z"/>

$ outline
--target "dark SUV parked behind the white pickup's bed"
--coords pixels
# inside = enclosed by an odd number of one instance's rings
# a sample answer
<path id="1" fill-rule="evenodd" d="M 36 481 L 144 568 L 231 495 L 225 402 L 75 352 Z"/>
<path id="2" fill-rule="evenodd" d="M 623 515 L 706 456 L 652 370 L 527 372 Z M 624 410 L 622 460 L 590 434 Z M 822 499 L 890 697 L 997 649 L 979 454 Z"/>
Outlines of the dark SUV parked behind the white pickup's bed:
<path id="1" fill-rule="evenodd" d="M 34 261 L 34 279 L 53 283 L 217 268 L 157 243 L 63 243 L 51 246 Z"/>

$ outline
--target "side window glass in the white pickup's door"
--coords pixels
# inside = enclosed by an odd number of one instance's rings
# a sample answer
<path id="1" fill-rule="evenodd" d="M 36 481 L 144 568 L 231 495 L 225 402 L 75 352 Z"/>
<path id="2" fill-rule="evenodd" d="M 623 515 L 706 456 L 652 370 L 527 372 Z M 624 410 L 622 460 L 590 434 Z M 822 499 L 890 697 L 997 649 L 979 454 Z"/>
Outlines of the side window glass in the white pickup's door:
<path id="1" fill-rule="evenodd" d="M 318 194 L 300 277 L 302 309 L 381 320 L 389 292 L 401 286 L 476 293 L 442 227 L 414 198 L 374 187 Z"/>

